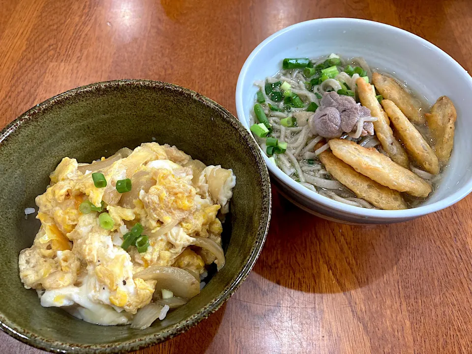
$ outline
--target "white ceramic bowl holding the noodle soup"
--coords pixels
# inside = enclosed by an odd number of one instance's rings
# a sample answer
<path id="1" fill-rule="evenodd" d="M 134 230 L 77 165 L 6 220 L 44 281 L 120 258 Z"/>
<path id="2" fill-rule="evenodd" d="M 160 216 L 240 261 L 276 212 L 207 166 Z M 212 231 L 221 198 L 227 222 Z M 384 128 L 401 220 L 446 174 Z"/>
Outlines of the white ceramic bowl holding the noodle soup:
<path id="1" fill-rule="evenodd" d="M 284 58 L 316 58 L 330 53 L 361 56 L 371 67 L 394 73 L 433 104 L 442 95 L 457 110 L 454 148 L 441 184 L 420 207 L 377 210 L 353 207 L 321 196 L 295 182 L 263 153 L 272 181 L 297 206 L 324 218 L 348 223 L 380 224 L 410 220 L 449 207 L 472 190 L 472 78 L 435 45 L 402 29 L 377 22 L 331 18 L 302 22 L 282 29 L 257 46 L 244 63 L 236 86 L 236 110 L 249 129 L 256 80 L 281 68 Z"/>

